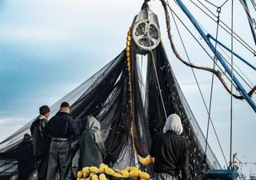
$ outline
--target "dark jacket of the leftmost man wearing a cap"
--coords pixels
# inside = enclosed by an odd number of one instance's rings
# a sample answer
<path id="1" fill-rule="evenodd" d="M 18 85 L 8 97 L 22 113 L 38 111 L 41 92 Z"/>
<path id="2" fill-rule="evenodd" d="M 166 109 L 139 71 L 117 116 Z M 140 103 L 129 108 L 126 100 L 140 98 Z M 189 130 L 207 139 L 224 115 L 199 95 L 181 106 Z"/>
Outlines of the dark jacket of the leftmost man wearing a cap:
<path id="1" fill-rule="evenodd" d="M 43 129 L 46 126 L 47 119 L 43 116 L 38 116 L 30 126 L 31 135 L 33 138 L 33 154 L 34 156 L 46 155 L 49 152 L 50 141 L 43 134 Z"/>

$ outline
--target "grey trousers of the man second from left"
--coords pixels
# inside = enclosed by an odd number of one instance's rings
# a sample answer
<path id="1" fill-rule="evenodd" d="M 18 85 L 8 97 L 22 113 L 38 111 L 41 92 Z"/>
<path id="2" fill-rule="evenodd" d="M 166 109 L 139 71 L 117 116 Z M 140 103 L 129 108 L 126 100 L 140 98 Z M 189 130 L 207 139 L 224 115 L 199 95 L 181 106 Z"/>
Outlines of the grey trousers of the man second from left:
<path id="1" fill-rule="evenodd" d="M 69 141 L 51 141 L 46 180 L 55 180 L 59 170 L 59 179 L 71 179 L 71 146 Z"/>

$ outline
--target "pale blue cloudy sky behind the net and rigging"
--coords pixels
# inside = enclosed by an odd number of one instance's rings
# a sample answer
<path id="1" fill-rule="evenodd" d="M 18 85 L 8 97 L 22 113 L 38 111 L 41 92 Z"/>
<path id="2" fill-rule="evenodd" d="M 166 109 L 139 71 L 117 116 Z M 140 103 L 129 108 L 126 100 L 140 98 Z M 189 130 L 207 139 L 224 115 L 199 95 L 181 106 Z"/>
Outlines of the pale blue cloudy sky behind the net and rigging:
<path id="1" fill-rule="evenodd" d="M 52 105 L 82 82 L 90 78 L 106 63 L 115 58 L 126 46 L 126 33 L 133 18 L 138 14 L 143 1 L 100 0 L 0 0 L 0 142 L 38 115 L 38 107 Z M 193 12 L 204 30 L 216 35 L 216 24 L 202 15 L 189 1 L 187 7 Z M 221 6 L 225 1 L 211 1 Z M 221 3 L 222 2 L 222 3 Z M 222 6 L 220 17 L 230 24 L 230 1 Z M 202 41 L 181 10 L 172 2 L 174 11 L 189 26 L 192 33 Z M 214 6 L 206 5 L 216 13 Z M 198 124 L 206 134 L 207 113 L 198 93 L 189 67 L 179 62 L 170 48 L 166 36 L 166 24 L 161 2 L 150 2 L 150 8 L 158 14 L 162 41 L 179 85 L 190 104 Z M 251 46 L 246 16 L 240 4 L 234 6 L 234 30 Z M 216 13 L 217 14 L 217 13 Z M 209 57 L 178 22 L 194 64 L 213 66 Z M 178 38 L 174 22 L 171 32 L 178 52 L 186 58 Z M 223 30 L 218 38 L 229 43 Z M 206 45 L 203 45 L 206 49 Z M 254 48 L 255 49 L 255 48 Z M 255 58 L 235 44 L 234 50 L 242 53 L 246 60 L 256 66 Z M 224 52 L 223 52 L 224 54 Z M 228 55 L 226 55 L 228 56 Z M 253 85 L 256 73 L 240 62 Z M 209 106 L 211 74 L 195 70 L 202 94 Z M 254 102 L 256 98 L 254 97 Z M 233 143 L 232 152 L 241 162 L 256 162 L 256 114 L 245 102 L 233 99 Z M 218 132 L 226 159 L 230 154 L 230 95 L 214 80 L 211 118 Z M 210 128 L 209 143 L 219 162 L 225 166 L 218 143 Z M 256 174 L 256 165 L 242 164 L 240 172 Z"/>

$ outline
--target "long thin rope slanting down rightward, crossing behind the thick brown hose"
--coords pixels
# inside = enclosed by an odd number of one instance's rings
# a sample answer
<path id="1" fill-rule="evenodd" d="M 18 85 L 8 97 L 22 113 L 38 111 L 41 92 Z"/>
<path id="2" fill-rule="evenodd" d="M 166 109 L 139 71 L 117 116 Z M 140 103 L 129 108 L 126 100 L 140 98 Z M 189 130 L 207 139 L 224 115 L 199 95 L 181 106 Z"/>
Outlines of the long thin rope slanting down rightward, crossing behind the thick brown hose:
<path id="1" fill-rule="evenodd" d="M 174 12 L 173 12 L 172 10 L 171 10 L 170 12 L 171 12 L 171 14 L 172 14 L 172 18 L 174 19 L 174 24 L 175 24 L 176 29 L 177 29 L 177 31 L 178 31 L 179 38 L 181 39 L 183 49 L 185 50 L 186 58 L 188 58 L 188 61 L 190 62 L 190 58 L 189 58 L 189 56 L 188 56 L 186 47 L 185 47 L 184 42 L 183 42 L 183 40 L 182 40 L 182 36 L 181 36 L 181 34 L 180 34 L 180 31 L 178 30 L 177 22 L 175 21 L 175 18 L 174 18 Z M 176 15 L 176 14 L 175 14 L 175 15 Z M 191 62 L 190 62 L 190 63 L 191 63 Z M 202 102 L 203 102 L 203 104 L 204 104 L 204 106 L 205 106 L 205 108 L 206 108 L 206 112 L 207 112 L 207 114 L 209 114 L 209 110 L 208 110 L 208 108 L 207 108 L 207 106 L 206 106 L 206 100 L 205 100 L 205 98 L 204 98 L 203 95 L 202 95 L 202 90 L 201 90 L 201 88 L 200 88 L 200 86 L 199 86 L 199 84 L 198 84 L 198 79 L 197 79 L 197 77 L 196 77 L 196 75 L 195 75 L 195 73 L 194 73 L 194 69 L 191 68 L 191 70 L 192 70 L 192 73 L 193 73 L 193 75 L 194 75 L 194 80 L 195 80 L 195 82 L 196 82 L 196 84 L 197 84 L 197 86 L 198 86 L 198 90 L 199 90 L 199 93 L 200 93 L 200 95 L 201 95 Z M 221 150 L 221 152 L 222 152 L 222 156 L 223 156 L 223 158 L 224 158 L 224 160 L 225 160 L 225 162 L 226 162 L 226 166 L 228 166 L 227 161 L 226 161 L 226 157 L 225 157 L 225 155 L 224 155 L 224 151 L 223 151 L 223 149 L 222 149 L 221 142 L 219 141 L 218 134 L 217 134 L 217 131 L 216 131 L 216 129 L 215 129 L 214 123 L 212 122 L 211 117 L 210 117 L 210 122 L 211 122 L 211 126 L 213 127 L 215 137 L 217 138 L 218 146 L 219 146 L 219 148 L 220 148 L 220 150 Z M 205 158 L 206 158 L 206 157 L 205 157 Z"/>

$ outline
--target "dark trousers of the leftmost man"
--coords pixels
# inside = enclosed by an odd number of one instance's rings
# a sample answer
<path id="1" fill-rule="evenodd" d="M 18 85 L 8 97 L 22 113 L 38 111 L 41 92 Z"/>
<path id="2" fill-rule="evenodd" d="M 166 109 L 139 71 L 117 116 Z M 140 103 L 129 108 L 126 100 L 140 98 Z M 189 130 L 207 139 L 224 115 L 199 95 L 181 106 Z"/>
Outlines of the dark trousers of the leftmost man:
<path id="1" fill-rule="evenodd" d="M 36 163 L 38 169 L 38 180 L 46 180 L 47 166 L 48 166 L 48 155 L 36 156 Z"/>

